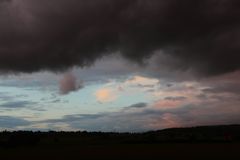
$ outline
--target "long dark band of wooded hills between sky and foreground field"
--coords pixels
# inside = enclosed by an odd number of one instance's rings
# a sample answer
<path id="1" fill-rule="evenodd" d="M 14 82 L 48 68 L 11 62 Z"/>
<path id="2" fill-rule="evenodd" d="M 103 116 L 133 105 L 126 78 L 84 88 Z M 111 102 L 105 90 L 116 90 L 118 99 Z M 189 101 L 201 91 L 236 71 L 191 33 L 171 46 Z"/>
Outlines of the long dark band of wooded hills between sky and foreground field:
<path id="1" fill-rule="evenodd" d="M 36 145 L 107 145 L 240 142 L 240 125 L 171 128 L 144 133 L 116 132 L 0 132 L 0 147 Z"/>

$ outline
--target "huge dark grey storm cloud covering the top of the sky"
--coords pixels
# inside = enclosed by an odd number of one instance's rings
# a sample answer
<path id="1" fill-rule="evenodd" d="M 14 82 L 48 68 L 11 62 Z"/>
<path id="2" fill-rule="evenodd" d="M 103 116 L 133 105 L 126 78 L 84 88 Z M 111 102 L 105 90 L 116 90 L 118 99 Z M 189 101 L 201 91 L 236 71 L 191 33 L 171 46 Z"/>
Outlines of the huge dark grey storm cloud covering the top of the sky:
<path id="1" fill-rule="evenodd" d="M 179 59 L 177 69 L 240 68 L 238 0 L 0 2 L 2 71 L 86 66 L 117 51 L 141 62 L 155 50 Z"/>

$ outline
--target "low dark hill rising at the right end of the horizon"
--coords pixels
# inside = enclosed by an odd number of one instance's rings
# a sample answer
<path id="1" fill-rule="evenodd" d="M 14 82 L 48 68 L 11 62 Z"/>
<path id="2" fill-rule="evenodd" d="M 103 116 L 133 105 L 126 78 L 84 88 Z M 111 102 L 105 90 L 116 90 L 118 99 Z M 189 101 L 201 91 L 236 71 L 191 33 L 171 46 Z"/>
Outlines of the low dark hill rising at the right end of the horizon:
<path id="1" fill-rule="evenodd" d="M 149 135 L 157 142 L 237 142 L 240 141 L 240 125 L 171 128 L 143 135 Z"/>

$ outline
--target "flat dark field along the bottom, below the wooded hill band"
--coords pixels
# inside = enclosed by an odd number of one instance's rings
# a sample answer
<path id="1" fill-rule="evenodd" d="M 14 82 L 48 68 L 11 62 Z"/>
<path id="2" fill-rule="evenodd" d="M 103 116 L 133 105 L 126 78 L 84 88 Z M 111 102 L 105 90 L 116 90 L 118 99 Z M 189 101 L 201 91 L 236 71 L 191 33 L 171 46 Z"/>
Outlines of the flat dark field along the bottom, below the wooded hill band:
<path id="1" fill-rule="evenodd" d="M 1 159 L 239 159 L 240 144 L 125 144 L 1 149 Z"/>

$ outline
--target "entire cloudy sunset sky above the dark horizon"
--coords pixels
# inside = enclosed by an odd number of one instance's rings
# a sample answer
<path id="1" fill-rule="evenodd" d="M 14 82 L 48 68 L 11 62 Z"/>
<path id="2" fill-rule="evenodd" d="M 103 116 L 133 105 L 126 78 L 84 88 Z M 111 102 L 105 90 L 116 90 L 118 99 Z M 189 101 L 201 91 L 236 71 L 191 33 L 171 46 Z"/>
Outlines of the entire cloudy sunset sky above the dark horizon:
<path id="1" fill-rule="evenodd" d="M 238 0 L 0 0 L 0 130 L 240 123 Z"/>

